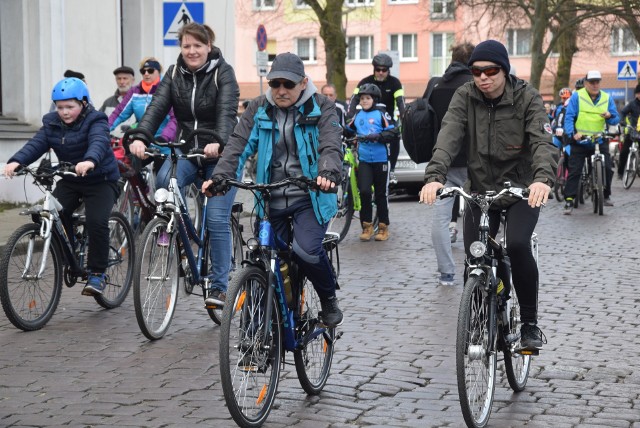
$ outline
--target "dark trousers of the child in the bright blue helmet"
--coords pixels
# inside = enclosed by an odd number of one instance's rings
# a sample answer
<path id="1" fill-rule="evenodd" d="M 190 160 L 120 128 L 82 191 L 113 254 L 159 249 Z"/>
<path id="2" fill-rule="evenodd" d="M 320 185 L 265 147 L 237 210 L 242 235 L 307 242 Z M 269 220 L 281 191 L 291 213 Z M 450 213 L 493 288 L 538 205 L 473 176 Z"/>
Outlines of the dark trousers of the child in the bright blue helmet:
<path id="1" fill-rule="evenodd" d="M 60 180 L 53 191 L 62 204 L 62 223 L 67 235 L 73 239 L 73 212 L 84 201 L 89 255 L 87 269 L 93 273 L 104 273 L 109 261 L 109 215 L 118 197 L 116 182 L 71 183 Z"/>

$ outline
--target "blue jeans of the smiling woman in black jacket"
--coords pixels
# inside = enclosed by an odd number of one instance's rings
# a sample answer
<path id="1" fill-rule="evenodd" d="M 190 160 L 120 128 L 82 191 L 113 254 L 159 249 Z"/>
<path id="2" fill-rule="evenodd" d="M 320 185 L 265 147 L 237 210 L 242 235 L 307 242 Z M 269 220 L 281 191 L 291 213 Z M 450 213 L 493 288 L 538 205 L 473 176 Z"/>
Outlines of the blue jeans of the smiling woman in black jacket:
<path id="1" fill-rule="evenodd" d="M 204 177 L 211 177 L 216 164 L 204 167 Z M 196 183 L 198 187 L 202 185 L 202 179 L 198 176 L 199 167 L 186 159 L 178 160 L 178 170 L 176 178 L 180 193 L 184 198 L 184 189 Z M 169 186 L 169 173 L 171 172 L 171 161 L 165 161 L 157 174 L 158 187 L 167 188 Z M 209 231 L 209 254 L 211 259 L 211 269 L 209 278 L 211 287 L 221 291 L 227 291 L 229 285 L 229 270 L 231 269 L 231 209 L 235 200 L 238 188 L 231 187 L 224 196 L 214 196 L 209 198 L 207 203 L 207 230 Z"/>

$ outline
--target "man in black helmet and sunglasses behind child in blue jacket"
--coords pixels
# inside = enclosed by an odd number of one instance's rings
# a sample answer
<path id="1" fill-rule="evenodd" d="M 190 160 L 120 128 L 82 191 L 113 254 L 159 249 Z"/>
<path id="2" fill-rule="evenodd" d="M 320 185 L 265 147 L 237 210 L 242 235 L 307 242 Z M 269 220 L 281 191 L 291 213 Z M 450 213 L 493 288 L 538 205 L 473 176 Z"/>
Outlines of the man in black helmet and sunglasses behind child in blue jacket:
<path id="1" fill-rule="evenodd" d="M 390 69 L 393 66 L 393 60 L 387 54 L 378 54 L 373 57 L 373 74 L 362 79 L 353 90 L 353 96 L 349 102 L 349 108 L 347 110 L 347 118 L 352 118 L 356 114 L 356 106 L 360 102 L 358 97 L 358 91 L 362 85 L 366 83 L 373 83 L 382 93 L 380 103 L 384 104 L 385 109 L 389 115 L 391 124 L 395 124 L 398 117 L 404 114 L 404 89 L 400 79 L 392 76 Z M 396 115 L 396 110 L 398 115 Z M 397 125 L 396 125 L 397 127 Z M 400 154 L 400 135 L 389 140 L 389 183 L 397 184 L 398 179 L 394 173 L 396 162 L 398 161 L 398 155 Z"/>

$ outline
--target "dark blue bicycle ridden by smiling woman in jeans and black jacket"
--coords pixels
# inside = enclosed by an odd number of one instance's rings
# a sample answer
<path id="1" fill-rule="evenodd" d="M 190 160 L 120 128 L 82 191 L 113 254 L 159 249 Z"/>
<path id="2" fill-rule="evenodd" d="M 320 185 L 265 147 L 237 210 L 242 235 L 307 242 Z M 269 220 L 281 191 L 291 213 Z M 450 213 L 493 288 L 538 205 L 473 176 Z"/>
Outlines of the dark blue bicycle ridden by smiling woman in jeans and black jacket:
<path id="1" fill-rule="evenodd" d="M 150 135 L 144 131 L 135 130 Z M 132 134 L 135 134 L 133 132 Z M 154 198 L 156 212 L 140 236 L 140 251 L 137 254 L 133 274 L 133 297 L 136 320 L 142 333 L 150 340 L 162 338 L 173 319 L 178 300 L 180 279 L 184 281 L 183 289 L 187 294 L 195 294 L 206 298 L 209 289 L 209 231 L 206 227 L 206 216 L 202 216 L 199 232 L 189 216 L 184 198 L 178 188 L 176 176 L 178 159 L 204 158 L 201 149 L 194 149 L 188 154 L 179 154 L 176 149 L 191 141 L 197 135 L 211 135 L 217 141 L 220 137 L 213 131 L 196 129 L 180 142 L 166 143 L 171 150 L 171 178 L 169 188 L 156 190 Z M 145 153 L 154 158 L 164 159 L 167 155 L 148 148 Z M 205 199 L 205 212 L 207 200 Z M 242 232 L 239 224 L 239 213 L 242 205 L 235 205 L 230 218 L 232 234 L 231 269 L 239 267 L 242 260 Z M 166 237 L 165 242 L 159 241 Z M 202 294 L 195 292 L 200 285 Z M 220 324 L 222 308 L 205 307 L 211 320 Z"/>

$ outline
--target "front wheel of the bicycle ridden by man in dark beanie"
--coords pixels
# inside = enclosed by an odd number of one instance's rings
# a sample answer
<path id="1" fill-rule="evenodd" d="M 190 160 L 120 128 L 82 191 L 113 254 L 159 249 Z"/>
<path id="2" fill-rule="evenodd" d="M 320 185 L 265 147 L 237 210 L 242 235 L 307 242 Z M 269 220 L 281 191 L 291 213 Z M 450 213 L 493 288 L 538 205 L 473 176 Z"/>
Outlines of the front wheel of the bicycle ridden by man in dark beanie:
<path id="1" fill-rule="evenodd" d="M 468 427 L 485 427 L 491 416 L 497 357 L 488 343 L 489 299 L 484 281 L 470 276 L 458 312 L 456 374 L 462 416 Z M 477 395 L 477 396 L 476 396 Z"/>

